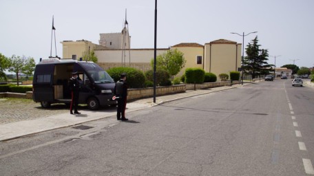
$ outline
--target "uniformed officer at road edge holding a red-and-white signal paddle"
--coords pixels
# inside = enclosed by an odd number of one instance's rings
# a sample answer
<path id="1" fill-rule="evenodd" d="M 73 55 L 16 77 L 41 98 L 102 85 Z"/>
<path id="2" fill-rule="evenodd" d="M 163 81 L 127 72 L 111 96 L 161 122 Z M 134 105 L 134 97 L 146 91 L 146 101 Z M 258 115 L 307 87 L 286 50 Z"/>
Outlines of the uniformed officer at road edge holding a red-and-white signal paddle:
<path id="1" fill-rule="evenodd" d="M 117 120 L 129 120 L 125 118 L 125 107 L 127 106 L 127 74 L 121 74 L 120 80 L 116 82 L 114 94 L 118 99 L 118 109 L 116 113 Z"/>

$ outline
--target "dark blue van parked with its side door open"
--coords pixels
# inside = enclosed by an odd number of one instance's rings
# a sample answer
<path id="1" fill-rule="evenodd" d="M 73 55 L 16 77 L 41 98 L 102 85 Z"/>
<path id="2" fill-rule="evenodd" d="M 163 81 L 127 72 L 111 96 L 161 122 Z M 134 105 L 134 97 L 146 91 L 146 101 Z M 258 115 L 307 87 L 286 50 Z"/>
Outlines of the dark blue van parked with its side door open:
<path id="1" fill-rule="evenodd" d="M 114 80 L 93 62 L 72 59 L 41 59 L 36 65 L 33 78 L 33 100 L 48 108 L 53 103 L 70 104 L 71 92 L 68 80 L 72 72 L 78 72 L 81 81 L 79 104 L 87 104 L 91 110 L 101 106 L 116 106 Z"/>

